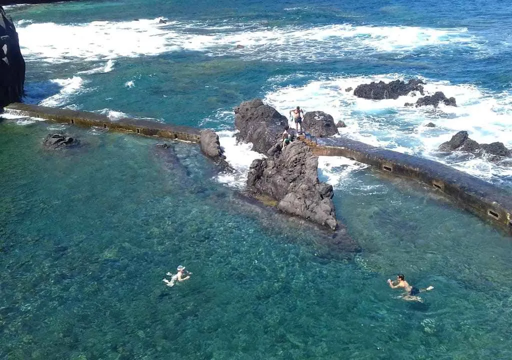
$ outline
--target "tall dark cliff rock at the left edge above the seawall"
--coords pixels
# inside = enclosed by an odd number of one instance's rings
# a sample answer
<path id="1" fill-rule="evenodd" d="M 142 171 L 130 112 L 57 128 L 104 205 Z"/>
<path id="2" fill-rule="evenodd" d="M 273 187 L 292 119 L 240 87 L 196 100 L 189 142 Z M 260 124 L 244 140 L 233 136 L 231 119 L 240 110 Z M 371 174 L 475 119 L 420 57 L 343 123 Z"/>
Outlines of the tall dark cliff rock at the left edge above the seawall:
<path id="1" fill-rule="evenodd" d="M 25 60 L 12 20 L 0 6 L 0 108 L 19 102 L 25 83 Z"/>

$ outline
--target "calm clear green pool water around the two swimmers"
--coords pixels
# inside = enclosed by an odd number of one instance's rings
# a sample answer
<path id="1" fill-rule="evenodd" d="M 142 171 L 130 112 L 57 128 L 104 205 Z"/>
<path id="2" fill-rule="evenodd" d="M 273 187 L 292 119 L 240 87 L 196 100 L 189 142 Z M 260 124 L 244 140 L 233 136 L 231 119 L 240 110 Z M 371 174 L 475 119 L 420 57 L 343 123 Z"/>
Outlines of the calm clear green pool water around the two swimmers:
<path id="1" fill-rule="evenodd" d="M 510 356 L 512 242 L 421 188 L 353 173 L 334 199 L 363 250 L 326 259 L 195 145 L 69 128 L 82 145 L 49 152 L 54 126 L 0 124 L 2 358 Z"/>

